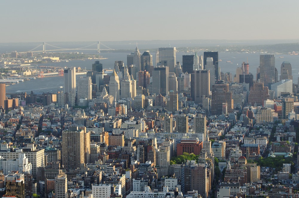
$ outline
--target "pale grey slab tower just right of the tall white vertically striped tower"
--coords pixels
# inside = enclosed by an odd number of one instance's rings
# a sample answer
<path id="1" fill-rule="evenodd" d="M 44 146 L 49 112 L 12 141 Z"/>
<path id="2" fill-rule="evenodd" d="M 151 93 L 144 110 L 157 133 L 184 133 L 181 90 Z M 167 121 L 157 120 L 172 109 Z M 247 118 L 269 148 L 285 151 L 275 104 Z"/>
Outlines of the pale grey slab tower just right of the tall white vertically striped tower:
<path id="1" fill-rule="evenodd" d="M 78 80 L 77 98 L 91 100 L 91 78 L 80 77 Z"/>

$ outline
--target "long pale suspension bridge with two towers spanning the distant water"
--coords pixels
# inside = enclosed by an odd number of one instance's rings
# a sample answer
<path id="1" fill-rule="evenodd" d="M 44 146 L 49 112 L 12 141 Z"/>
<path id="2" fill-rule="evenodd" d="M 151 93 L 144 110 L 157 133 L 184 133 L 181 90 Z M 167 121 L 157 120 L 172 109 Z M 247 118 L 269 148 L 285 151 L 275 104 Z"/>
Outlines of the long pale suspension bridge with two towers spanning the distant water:
<path id="1" fill-rule="evenodd" d="M 50 47 L 54 47 L 56 49 L 46 49 L 46 45 L 47 46 L 50 46 Z M 97 45 L 97 48 L 96 49 L 90 49 L 88 47 L 91 47 L 91 46 L 95 46 Z M 101 50 L 114 50 L 106 45 L 104 45 L 103 43 L 101 43 L 100 41 L 97 41 L 91 45 L 88 45 L 88 46 L 85 46 L 85 47 L 79 47 L 79 48 L 63 48 L 63 47 L 57 47 L 57 46 L 54 46 L 54 45 L 51 45 L 51 44 L 48 44 L 46 42 L 43 42 L 41 43 L 40 45 L 34 47 L 33 49 L 27 51 L 27 52 L 43 52 L 43 53 L 46 53 L 46 52 L 54 52 L 54 51 L 70 51 L 70 50 L 96 50 L 97 52 L 100 53 L 100 45 L 101 46 L 104 46 L 106 47 L 106 49 L 101 49 Z M 39 47 L 42 46 L 42 50 L 37 50 Z M 36 50 L 36 51 L 34 51 Z M 18 53 L 27 53 L 27 52 L 18 52 Z"/>

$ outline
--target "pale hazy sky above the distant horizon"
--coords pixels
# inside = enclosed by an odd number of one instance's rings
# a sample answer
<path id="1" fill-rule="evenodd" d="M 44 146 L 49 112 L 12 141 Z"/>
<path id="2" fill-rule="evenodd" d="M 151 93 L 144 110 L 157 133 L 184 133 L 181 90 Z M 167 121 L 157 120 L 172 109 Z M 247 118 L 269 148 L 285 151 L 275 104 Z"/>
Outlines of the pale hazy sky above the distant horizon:
<path id="1" fill-rule="evenodd" d="M 299 1 L 0 1 L 0 42 L 298 39 Z"/>

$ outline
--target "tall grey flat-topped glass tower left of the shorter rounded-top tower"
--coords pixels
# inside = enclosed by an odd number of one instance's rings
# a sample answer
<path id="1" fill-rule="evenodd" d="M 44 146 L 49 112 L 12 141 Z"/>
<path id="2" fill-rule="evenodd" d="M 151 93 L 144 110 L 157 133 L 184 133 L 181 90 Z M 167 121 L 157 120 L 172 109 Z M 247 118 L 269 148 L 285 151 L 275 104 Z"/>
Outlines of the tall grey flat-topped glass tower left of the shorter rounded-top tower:
<path id="1" fill-rule="evenodd" d="M 274 54 L 260 55 L 260 82 L 265 86 L 275 83 L 275 56 Z"/>

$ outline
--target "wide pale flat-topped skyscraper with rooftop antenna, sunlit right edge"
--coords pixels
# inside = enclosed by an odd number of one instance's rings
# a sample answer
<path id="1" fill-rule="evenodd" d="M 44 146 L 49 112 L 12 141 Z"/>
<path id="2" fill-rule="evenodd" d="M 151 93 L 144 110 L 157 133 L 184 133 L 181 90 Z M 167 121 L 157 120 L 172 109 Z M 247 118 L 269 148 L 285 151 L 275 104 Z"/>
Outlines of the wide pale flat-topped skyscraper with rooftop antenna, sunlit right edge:
<path id="1" fill-rule="evenodd" d="M 175 72 L 176 48 L 175 47 L 159 47 L 159 61 L 164 66 L 169 67 L 169 72 Z"/>

